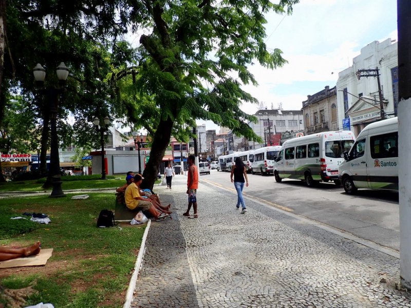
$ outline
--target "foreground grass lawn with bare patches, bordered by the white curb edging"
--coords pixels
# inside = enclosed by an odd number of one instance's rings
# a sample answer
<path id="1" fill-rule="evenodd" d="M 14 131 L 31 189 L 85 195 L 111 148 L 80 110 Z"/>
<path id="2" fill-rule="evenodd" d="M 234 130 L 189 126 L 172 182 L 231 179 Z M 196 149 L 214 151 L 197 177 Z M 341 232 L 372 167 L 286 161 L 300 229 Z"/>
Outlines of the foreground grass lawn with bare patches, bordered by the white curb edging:
<path id="1" fill-rule="evenodd" d="M 97 228 L 100 210 L 114 210 L 114 195 L 88 195 L 86 200 L 71 200 L 73 195 L 0 200 L 2 217 L 9 221 L 0 224 L 1 245 L 22 247 L 41 241 L 42 248 L 54 249 L 45 266 L 0 269 L 0 283 L 5 288 L 31 286 L 38 292 L 30 295 L 23 307 L 39 302 L 52 303 L 55 308 L 121 307 L 124 303 L 145 225 L 123 223 L 122 230 L 117 226 Z M 16 227 L 10 225 L 19 222 L 10 223 L 9 217 L 26 211 L 47 214 L 51 223 L 35 224 L 31 232 L 24 225 L 21 230 L 26 233 L 16 236 Z"/>

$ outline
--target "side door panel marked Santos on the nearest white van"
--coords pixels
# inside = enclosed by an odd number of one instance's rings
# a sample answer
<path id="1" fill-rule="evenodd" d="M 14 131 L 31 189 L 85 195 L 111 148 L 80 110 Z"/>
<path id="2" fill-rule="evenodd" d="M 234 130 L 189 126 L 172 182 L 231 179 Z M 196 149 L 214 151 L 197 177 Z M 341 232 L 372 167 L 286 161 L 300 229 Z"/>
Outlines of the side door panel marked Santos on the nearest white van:
<path id="1" fill-rule="evenodd" d="M 398 132 L 378 134 L 368 139 L 371 187 L 398 190 Z"/>

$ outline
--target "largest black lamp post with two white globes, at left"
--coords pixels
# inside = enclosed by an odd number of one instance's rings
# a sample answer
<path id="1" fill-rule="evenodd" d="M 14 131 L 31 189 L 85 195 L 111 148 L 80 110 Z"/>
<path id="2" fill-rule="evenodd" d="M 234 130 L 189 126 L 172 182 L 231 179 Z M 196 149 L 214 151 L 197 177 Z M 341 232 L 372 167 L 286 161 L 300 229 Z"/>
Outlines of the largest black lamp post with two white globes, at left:
<path id="1" fill-rule="evenodd" d="M 47 95 L 50 106 L 50 126 L 51 126 L 51 145 L 50 145 L 50 172 L 53 179 L 53 190 L 49 198 L 66 197 L 61 188 L 61 169 L 59 159 L 59 140 L 57 138 L 57 104 L 59 101 L 59 94 L 64 92 L 64 85 L 68 76 L 68 69 L 64 63 L 60 63 L 57 67 L 57 77 L 59 78 L 62 88 L 55 88 L 49 86 L 47 89 L 40 89 L 40 93 Z M 34 79 L 39 87 L 44 86 L 44 79 L 46 78 L 46 70 L 39 63 L 33 69 Z"/>

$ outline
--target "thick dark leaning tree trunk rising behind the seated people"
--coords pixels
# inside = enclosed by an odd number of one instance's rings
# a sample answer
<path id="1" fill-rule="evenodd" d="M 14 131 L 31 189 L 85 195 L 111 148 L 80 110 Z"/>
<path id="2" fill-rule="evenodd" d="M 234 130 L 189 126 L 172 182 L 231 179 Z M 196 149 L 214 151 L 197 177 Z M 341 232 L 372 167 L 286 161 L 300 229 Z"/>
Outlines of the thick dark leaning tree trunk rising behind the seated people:
<path id="1" fill-rule="evenodd" d="M 144 181 L 141 184 L 142 188 L 153 190 L 154 183 L 157 180 L 158 170 L 163 161 L 165 150 L 170 144 L 171 131 L 173 128 L 173 121 L 170 118 L 161 120 L 156 133 L 154 134 L 153 144 L 150 151 L 150 159 L 145 166 L 143 177 Z"/>

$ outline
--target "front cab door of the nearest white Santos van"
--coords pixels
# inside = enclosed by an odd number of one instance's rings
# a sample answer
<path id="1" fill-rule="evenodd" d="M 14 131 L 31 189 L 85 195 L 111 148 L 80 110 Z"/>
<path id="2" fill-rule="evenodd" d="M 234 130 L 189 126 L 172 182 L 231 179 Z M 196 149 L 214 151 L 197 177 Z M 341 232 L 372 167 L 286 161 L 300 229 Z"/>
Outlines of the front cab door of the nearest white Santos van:
<path id="1" fill-rule="evenodd" d="M 358 139 L 352 146 L 349 152 L 349 168 L 352 174 L 354 185 L 361 188 L 371 187 L 368 183 L 368 168 L 367 156 L 365 155 L 366 138 Z"/>

